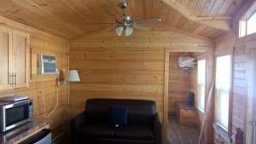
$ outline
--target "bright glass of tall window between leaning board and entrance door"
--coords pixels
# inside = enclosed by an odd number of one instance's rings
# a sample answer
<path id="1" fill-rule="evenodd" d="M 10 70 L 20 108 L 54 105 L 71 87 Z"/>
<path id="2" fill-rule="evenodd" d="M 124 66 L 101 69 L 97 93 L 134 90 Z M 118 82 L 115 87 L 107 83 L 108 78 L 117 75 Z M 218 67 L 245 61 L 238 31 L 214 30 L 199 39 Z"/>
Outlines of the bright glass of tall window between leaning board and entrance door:
<path id="1" fill-rule="evenodd" d="M 216 122 L 229 130 L 231 55 L 216 58 L 215 118 Z"/>

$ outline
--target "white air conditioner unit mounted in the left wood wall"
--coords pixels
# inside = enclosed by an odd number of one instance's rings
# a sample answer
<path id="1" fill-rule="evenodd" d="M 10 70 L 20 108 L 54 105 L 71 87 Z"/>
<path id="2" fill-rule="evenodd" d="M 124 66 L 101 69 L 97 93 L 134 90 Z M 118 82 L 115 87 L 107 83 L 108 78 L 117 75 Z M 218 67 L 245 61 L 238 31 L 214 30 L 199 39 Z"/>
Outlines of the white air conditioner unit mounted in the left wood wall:
<path id="1" fill-rule="evenodd" d="M 38 74 L 55 74 L 56 61 L 54 55 L 37 55 Z"/>

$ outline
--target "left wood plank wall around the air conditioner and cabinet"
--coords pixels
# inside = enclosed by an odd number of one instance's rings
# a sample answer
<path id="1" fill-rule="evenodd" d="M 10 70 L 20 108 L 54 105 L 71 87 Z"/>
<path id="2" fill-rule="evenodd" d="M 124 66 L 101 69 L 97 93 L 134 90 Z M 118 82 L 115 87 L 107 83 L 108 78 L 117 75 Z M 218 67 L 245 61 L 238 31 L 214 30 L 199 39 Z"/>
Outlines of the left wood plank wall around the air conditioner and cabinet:
<path id="1" fill-rule="evenodd" d="M 14 26 L 16 28 L 30 32 L 30 49 L 32 54 L 32 69 L 36 68 L 35 64 L 37 63 L 35 55 L 44 54 L 44 55 L 55 55 L 56 56 L 56 66 L 59 69 L 67 69 L 68 67 L 68 43 L 67 40 L 60 37 L 55 37 L 46 32 L 38 31 L 29 26 L 22 25 L 13 20 L 9 20 L 3 17 L 0 17 L 0 23 L 3 23 L 8 26 Z M 42 87 L 41 81 L 43 80 L 44 89 Z M 59 107 L 52 113 L 50 118 L 52 119 L 51 128 L 59 129 L 61 124 L 63 124 L 67 119 L 67 84 L 63 84 L 59 87 Z M 41 75 L 37 75 L 35 72 L 32 72 L 30 79 L 30 87 L 25 89 L 11 89 L 0 91 L 0 96 L 4 95 L 27 95 L 33 100 L 33 115 L 34 118 L 44 116 L 44 103 L 42 95 L 45 95 L 46 102 L 46 113 L 50 112 L 56 103 L 55 96 L 55 75 L 44 75 L 41 78 Z"/>

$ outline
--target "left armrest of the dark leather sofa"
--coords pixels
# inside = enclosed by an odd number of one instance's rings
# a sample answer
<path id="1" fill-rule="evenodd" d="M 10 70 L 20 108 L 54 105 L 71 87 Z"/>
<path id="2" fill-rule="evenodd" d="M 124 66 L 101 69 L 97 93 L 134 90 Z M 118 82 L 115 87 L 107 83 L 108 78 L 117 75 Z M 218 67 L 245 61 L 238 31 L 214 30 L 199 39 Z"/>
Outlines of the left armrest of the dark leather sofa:
<path id="1" fill-rule="evenodd" d="M 76 116 L 71 120 L 71 130 L 73 132 L 76 132 L 77 130 L 79 130 L 84 125 L 85 120 L 86 120 L 86 112 L 80 113 L 78 116 Z"/>

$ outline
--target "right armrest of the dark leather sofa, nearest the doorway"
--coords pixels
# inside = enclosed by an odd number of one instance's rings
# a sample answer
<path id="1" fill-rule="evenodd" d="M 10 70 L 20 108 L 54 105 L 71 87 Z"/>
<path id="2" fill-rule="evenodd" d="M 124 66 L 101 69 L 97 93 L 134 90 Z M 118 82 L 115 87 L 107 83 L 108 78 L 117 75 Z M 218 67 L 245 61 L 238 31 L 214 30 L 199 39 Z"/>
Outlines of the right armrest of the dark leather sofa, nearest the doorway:
<path id="1" fill-rule="evenodd" d="M 159 114 L 155 113 L 153 116 L 153 132 L 154 144 L 162 143 L 162 124 L 160 123 Z"/>

